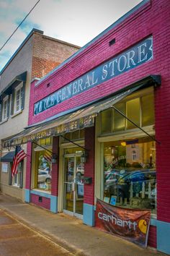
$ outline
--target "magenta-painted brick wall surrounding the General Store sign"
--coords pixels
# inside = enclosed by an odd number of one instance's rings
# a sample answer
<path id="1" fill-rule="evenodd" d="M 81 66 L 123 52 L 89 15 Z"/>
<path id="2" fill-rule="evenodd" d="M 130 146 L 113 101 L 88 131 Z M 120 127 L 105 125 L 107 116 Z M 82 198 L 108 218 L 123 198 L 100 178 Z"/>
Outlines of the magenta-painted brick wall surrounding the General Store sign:
<path id="1" fill-rule="evenodd" d="M 170 222 L 170 1 L 152 0 L 135 11 L 125 21 L 109 30 L 102 38 L 86 47 L 79 55 L 66 65 L 53 72 L 45 80 L 32 89 L 31 101 L 40 101 L 46 95 L 53 93 L 63 85 L 75 80 L 85 72 L 97 67 L 103 61 L 120 54 L 130 46 L 135 45 L 143 38 L 153 35 L 153 59 L 135 69 L 120 74 L 112 80 L 103 82 L 88 91 L 76 95 L 58 106 L 33 116 L 33 108 L 30 112 L 30 124 L 42 121 L 54 114 L 58 114 L 68 108 L 101 98 L 104 95 L 114 93 L 131 83 L 150 74 L 161 74 L 161 86 L 155 89 L 155 128 L 156 139 L 156 171 L 157 171 L 157 219 Z M 109 41 L 115 38 L 116 43 L 109 46 Z M 69 74 L 69 75 L 68 75 Z M 50 87 L 47 84 L 50 82 Z M 69 102 L 69 104 L 68 104 Z M 89 134 L 90 135 L 90 134 Z M 87 163 L 88 164 L 88 163 Z M 90 170 L 90 168 L 89 168 Z M 93 203 L 93 189 L 86 189 L 85 202 Z M 93 184 L 91 185 L 92 188 Z M 156 228 L 151 226 L 149 244 L 156 246 Z"/>

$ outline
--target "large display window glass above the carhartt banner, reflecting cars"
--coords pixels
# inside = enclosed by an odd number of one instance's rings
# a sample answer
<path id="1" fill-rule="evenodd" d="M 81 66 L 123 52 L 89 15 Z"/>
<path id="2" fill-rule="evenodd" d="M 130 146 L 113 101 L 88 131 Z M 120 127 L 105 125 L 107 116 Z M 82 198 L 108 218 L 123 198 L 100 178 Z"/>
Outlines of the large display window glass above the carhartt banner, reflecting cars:
<path id="1" fill-rule="evenodd" d="M 112 203 L 112 197 L 118 206 L 156 213 L 155 142 L 140 139 L 135 150 L 130 140 L 104 142 L 104 200 Z"/>

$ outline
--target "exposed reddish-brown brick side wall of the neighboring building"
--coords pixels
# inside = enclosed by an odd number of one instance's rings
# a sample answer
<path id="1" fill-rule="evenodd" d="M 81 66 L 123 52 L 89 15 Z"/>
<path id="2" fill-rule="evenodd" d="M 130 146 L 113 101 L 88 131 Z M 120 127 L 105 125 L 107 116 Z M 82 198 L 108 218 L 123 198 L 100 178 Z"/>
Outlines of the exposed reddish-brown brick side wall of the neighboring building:
<path id="1" fill-rule="evenodd" d="M 32 78 L 45 74 L 73 55 L 79 46 L 34 33 L 32 54 Z"/>

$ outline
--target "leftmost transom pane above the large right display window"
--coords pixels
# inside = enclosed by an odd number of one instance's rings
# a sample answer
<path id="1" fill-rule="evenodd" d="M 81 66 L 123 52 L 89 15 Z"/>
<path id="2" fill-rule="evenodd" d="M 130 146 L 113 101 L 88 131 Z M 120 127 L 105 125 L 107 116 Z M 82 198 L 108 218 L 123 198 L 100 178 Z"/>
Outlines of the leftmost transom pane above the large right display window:
<path id="1" fill-rule="evenodd" d="M 102 133 L 112 132 L 112 108 L 109 108 L 102 112 Z"/>

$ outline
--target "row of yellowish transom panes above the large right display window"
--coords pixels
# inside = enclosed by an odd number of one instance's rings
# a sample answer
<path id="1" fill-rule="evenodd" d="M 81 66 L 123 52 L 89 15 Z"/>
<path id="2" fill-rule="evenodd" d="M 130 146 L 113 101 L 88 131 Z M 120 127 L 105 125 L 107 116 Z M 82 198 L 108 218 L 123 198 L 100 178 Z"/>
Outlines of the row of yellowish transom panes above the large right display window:
<path id="1" fill-rule="evenodd" d="M 135 124 L 138 124 L 139 127 L 154 124 L 153 88 L 133 93 L 125 100 L 115 104 L 115 107 L 134 121 Z M 103 135 L 136 128 L 134 124 L 112 108 L 103 111 L 101 119 Z"/>

